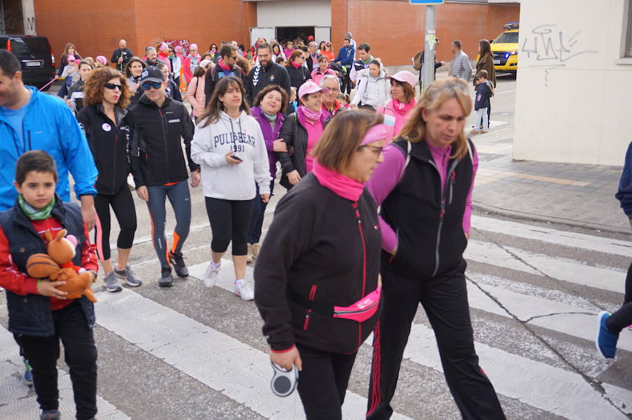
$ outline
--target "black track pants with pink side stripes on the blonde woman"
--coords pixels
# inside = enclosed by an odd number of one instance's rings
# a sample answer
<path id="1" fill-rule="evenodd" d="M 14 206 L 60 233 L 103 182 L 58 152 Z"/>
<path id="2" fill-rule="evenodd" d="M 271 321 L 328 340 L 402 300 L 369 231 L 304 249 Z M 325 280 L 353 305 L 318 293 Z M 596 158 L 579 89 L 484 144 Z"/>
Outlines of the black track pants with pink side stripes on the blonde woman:
<path id="1" fill-rule="evenodd" d="M 367 419 L 389 419 L 404 347 L 417 307 L 435 331 L 445 379 L 464 420 L 505 419 L 492 383 L 478 365 L 468 294 L 466 262 L 430 279 L 402 277 L 384 262 L 382 315 L 374 330 Z"/>

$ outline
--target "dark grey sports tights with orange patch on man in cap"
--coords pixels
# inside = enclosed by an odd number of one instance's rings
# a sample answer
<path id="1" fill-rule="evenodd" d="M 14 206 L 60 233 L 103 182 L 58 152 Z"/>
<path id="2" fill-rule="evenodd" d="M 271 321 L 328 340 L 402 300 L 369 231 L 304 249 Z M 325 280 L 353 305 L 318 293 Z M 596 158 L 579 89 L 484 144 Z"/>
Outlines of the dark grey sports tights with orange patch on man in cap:
<path id="1" fill-rule="evenodd" d="M 171 252 L 176 254 L 180 252 L 187 236 L 189 236 L 191 226 L 189 185 L 187 185 L 187 180 L 173 185 L 150 185 L 147 187 L 147 194 L 150 196 L 147 208 L 152 219 L 154 249 L 162 269 L 166 270 L 169 269 L 169 258 L 167 258 L 169 244 L 167 244 L 164 235 L 164 226 L 166 225 L 165 199 L 169 197 L 173 213 L 176 214 L 176 228 L 173 230 L 173 244 L 171 245 Z"/>

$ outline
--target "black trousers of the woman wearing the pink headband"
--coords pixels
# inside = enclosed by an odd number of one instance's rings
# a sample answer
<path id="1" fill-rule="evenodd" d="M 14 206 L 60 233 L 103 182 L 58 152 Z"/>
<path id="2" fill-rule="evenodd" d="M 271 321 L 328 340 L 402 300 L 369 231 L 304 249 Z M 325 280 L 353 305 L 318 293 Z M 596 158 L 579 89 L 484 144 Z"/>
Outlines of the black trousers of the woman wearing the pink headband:
<path id="1" fill-rule="evenodd" d="M 341 420 L 357 353 L 327 353 L 301 344 L 296 344 L 296 348 L 303 361 L 303 370 L 298 374 L 298 394 L 307 420 Z"/>

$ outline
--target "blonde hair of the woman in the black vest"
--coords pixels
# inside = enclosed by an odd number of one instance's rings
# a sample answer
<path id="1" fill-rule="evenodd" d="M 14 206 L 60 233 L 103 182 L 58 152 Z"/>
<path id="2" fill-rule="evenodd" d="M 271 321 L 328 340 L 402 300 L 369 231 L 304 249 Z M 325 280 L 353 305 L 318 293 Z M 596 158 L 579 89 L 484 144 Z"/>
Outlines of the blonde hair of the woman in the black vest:
<path id="1" fill-rule="evenodd" d="M 417 143 L 426 137 L 428 129 L 422 117 L 422 110 L 426 112 L 436 111 L 446 100 L 456 99 L 461 105 L 463 114 L 468 116 L 472 112 L 472 98 L 470 98 L 470 87 L 458 77 L 445 77 L 433 81 L 423 92 L 419 102 L 412 110 L 410 117 L 400 131 L 400 137 L 411 143 Z M 468 153 L 468 139 L 465 131 L 461 130 L 454 142 L 454 153 L 451 158 L 463 159 Z"/>

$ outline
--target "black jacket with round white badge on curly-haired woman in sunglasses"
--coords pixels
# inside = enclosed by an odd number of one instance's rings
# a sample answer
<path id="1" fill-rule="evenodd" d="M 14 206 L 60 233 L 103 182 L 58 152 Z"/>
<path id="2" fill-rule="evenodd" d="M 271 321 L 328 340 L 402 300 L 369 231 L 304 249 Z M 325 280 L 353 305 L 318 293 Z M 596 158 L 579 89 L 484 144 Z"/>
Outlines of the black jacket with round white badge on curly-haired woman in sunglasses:
<path id="1" fill-rule="evenodd" d="M 101 104 L 84 107 L 77 114 L 77 121 L 86 134 L 99 171 L 95 187 L 103 195 L 114 195 L 122 188 L 128 188 L 127 176 L 130 169 L 127 159 L 127 110 L 114 107 L 114 114 L 117 117 L 116 122 L 105 115 Z"/>

